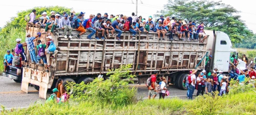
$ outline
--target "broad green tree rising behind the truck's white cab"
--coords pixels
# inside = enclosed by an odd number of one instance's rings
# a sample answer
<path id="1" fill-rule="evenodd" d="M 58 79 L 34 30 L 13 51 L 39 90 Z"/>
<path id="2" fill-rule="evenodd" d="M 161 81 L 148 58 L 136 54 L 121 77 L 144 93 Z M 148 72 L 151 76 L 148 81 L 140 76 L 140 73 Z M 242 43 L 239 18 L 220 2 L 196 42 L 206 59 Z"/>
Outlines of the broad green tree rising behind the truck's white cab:
<path id="1" fill-rule="evenodd" d="M 233 15 L 239 11 L 221 1 L 168 0 L 164 9 L 157 13 L 185 21 L 192 20 L 197 24 L 204 22 L 206 29 L 227 33 L 232 43 L 239 43 L 242 39 L 253 36 L 253 32 L 240 20 L 240 16 Z"/>

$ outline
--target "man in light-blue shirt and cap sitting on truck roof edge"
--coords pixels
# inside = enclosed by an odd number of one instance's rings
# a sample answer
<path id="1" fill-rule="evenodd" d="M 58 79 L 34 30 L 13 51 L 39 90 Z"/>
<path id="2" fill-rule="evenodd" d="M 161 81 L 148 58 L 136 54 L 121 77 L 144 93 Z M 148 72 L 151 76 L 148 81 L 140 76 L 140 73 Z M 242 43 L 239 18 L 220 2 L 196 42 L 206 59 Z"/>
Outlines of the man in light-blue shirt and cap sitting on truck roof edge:
<path id="1" fill-rule="evenodd" d="M 68 19 L 68 14 L 65 14 L 64 17 L 61 18 L 60 20 L 60 28 L 64 29 L 64 38 L 67 38 L 67 29 L 69 30 L 68 32 L 68 38 L 72 39 L 72 28 L 70 25 L 70 20 Z"/>

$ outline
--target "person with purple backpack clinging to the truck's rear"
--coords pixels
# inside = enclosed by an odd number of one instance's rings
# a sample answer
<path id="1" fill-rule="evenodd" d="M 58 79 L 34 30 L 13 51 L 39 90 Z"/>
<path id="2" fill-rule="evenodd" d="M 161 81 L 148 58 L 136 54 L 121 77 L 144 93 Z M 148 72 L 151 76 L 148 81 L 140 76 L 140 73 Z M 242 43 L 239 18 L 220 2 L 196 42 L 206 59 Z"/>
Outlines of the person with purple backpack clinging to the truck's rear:
<path id="1" fill-rule="evenodd" d="M 45 72 L 49 72 L 49 70 L 47 68 L 47 59 L 46 59 L 46 55 L 45 55 L 46 45 L 42 44 L 41 40 L 38 40 L 37 44 L 38 45 L 36 46 L 36 48 L 38 49 L 38 56 L 36 57 L 36 59 L 40 63 L 40 66 L 45 67 Z M 43 60 L 44 65 L 41 64 L 41 59 Z"/>

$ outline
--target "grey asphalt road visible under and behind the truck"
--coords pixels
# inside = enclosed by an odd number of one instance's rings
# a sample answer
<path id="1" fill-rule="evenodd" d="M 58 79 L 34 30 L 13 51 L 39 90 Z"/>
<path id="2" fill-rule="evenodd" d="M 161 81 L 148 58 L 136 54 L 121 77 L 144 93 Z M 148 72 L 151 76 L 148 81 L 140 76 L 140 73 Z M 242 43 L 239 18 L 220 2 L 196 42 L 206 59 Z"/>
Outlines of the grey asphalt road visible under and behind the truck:
<path id="1" fill-rule="evenodd" d="M 29 93 L 23 93 L 20 90 L 20 86 L 21 83 L 16 83 L 15 81 L 7 77 L 0 76 L 0 105 L 3 105 L 6 109 L 12 109 L 27 108 L 35 103 L 45 102 L 44 99 L 38 98 L 38 91 L 35 90 L 35 88 L 32 85 L 29 86 Z M 138 88 L 138 98 L 148 98 L 148 89 L 147 87 L 145 87 L 145 84 L 132 84 L 131 86 Z M 167 89 L 169 90 L 170 95 L 166 98 L 186 98 L 186 91 L 184 90 L 179 90 L 173 85 L 168 86 Z M 51 92 L 47 93 L 47 95 L 50 94 Z M 158 97 L 159 94 L 157 95 L 156 98 Z"/>

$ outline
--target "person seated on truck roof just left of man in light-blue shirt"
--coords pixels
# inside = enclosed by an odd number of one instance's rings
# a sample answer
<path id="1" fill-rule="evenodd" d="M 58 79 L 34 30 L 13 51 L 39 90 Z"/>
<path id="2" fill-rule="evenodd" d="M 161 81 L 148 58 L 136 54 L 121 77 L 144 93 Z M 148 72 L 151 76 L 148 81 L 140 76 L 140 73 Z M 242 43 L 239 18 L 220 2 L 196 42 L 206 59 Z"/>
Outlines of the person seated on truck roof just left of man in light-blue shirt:
<path id="1" fill-rule="evenodd" d="M 50 31 L 50 34 L 52 34 L 52 32 L 54 31 L 55 28 L 59 28 L 60 27 L 59 26 L 59 20 L 55 17 L 55 15 L 51 15 L 51 19 L 52 19 L 52 23 L 51 24 L 48 23 L 45 26 L 44 32 L 41 33 L 41 34 L 46 34 L 49 28 L 52 28 L 51 31 Z"/>

